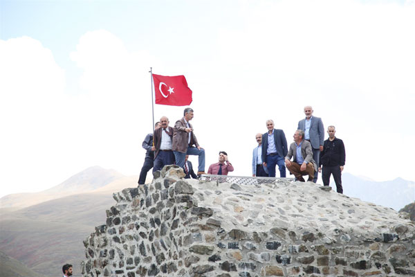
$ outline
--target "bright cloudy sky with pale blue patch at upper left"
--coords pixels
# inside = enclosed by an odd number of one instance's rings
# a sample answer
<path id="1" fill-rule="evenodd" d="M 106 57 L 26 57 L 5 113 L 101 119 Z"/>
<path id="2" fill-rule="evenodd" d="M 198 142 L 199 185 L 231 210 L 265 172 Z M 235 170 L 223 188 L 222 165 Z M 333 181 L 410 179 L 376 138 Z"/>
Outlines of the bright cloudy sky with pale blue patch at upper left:
<path id="1" fill-rule="evenodd" d="M 344 172 L 413 181 L 414 26 L 415 1 L 0 0 L 0 197 L 90 166 L 138 175 L 150 68 L 185 75 L 206 170 L 224 150 L 252 176 L 266 120 L 291 143 L 311 105 Z"/>

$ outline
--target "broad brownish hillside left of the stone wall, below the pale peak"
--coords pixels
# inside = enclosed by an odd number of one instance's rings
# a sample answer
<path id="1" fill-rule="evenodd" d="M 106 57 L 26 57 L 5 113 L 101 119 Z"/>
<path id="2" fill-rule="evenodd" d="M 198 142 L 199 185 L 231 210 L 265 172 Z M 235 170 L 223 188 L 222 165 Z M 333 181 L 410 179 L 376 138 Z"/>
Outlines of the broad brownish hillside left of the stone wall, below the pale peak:
<path id="1" fill-rule="evenodd" d="M 105 222 L 111 194 L 88 193 L 55 199 L 0 219 L 0 251 L 42 276 L 59 276 L 68 262 L 80 276 L 82 241 Z"/>

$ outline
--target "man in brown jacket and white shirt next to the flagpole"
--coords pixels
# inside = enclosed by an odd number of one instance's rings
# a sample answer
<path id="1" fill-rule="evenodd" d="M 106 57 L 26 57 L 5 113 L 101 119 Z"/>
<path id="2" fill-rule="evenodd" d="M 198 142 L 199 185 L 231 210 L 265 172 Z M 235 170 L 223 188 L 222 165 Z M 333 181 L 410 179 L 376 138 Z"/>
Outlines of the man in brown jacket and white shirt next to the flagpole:
<path id="1" fill-rule="evenodd" d="M 154 168 L 153 172 L 162 170 L 163 166 L 174 164 L 172 139 L 174 129 L 169 127 L 169 118 L 160 118 L 161 127 L 154 131 Z"/>

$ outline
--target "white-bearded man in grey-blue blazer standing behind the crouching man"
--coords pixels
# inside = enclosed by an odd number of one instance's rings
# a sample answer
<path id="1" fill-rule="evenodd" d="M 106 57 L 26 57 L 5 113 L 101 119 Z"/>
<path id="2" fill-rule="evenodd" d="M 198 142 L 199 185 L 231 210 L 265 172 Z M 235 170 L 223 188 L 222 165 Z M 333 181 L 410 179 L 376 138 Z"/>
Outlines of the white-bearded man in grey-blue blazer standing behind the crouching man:
<path id="1" fill-rule="evenodd" d="M 306 118 L 299 120 L 297 129 L 304 131 L 304 139 L 311 143 L 313 149 L 313 159 L 315 163 L 320 163 L 320 152 L 323 151 L 324 126 L 322 118 L 313 116 L 313 107 L 304 107 Z M 313 182 L 317 182 L 318 171 L 314 173 Z"/>

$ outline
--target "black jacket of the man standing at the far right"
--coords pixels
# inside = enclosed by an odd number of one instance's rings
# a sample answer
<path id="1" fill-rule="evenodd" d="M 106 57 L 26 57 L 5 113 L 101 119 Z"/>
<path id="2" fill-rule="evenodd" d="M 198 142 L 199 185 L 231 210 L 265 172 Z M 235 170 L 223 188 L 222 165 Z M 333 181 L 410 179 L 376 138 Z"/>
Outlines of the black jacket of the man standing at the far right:
<path id="1" fill-rule="evenodd" d="M 319 166 L 344 166 L 345 161 L 346 152 L 343 141 L 336 137 L 333 141 L 326 139 L 324 141 L 323 151 L 320 153 Z"/>

